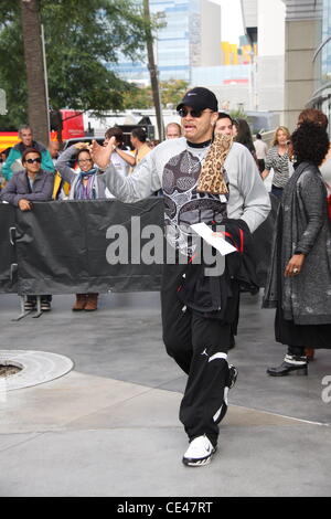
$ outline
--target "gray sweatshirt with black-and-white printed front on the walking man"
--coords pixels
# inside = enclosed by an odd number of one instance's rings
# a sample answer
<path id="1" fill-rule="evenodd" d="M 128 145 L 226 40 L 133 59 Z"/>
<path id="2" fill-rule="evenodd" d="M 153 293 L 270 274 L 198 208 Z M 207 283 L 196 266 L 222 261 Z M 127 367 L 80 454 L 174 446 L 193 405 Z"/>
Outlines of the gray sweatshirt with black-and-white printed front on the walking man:
<path id="1" fill-rule="evenodd" d="M 221 222 L 225 215 L 244 220 L 254 232 L 270 211 L 269 195 L 255 160 L 242 145 L 234 142 L 225 161 L 229 197 L 196 193 L 196 181 L 206 148 L 191 148 L 184 137 L 169 139 L 154 148 L 136 167 L 132 174 L 116 173 L 111 163 L 106 184 L 122 202 L 137 202 L 163 189 L 166 224 L 172 229 L 192 223 Z M 220 218 L 217 218 L 217 215 Z"/>

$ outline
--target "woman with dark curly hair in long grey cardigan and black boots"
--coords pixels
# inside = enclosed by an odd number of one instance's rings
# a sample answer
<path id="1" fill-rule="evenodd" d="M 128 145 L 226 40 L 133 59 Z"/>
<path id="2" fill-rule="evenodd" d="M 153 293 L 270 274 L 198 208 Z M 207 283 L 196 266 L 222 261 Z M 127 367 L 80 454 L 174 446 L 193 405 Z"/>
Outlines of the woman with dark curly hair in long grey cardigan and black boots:
<path id="1" fill-rule="evenodd" d="M 306 348 L 331 348 L 331 229 L 319 166 L 325 129 L 305 121 L 291 137 L 295 172 L 279 205 L 264 307 L 277 308 L 276 341 L 288 346 L 271 377 L 308 374 Z"/>

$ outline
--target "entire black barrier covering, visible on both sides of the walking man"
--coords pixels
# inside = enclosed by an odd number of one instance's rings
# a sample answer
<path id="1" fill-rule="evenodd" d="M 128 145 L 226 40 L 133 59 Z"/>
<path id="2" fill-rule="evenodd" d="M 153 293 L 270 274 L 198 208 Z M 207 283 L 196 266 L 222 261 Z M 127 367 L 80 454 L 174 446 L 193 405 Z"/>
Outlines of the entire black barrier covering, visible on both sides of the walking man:
<path id="1" fill-rule="evenodd" d="M 253 235 L 260 286 L 270 264 L 271 202 Z M 0 293 L 159 290 L 168 261 L 163 211 L 162 198 L 39 202 L 24 212 L 0 203 Z"/>

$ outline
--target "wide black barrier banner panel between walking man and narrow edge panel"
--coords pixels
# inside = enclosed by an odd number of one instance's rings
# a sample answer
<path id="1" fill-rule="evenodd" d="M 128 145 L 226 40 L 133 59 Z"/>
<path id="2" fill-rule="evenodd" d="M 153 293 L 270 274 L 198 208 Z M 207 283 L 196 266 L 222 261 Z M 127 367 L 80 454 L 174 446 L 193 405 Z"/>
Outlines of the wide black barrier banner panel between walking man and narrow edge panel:
<path id="1" fill-rule="evenodd" d="M 163 235 L 163 200 L 34 203 L 17 211 L 19 294 L 158 290 L 160 264 L 141 261 L 152 224 Z M 142 234 L 142 236 L 141 236 Z"/>

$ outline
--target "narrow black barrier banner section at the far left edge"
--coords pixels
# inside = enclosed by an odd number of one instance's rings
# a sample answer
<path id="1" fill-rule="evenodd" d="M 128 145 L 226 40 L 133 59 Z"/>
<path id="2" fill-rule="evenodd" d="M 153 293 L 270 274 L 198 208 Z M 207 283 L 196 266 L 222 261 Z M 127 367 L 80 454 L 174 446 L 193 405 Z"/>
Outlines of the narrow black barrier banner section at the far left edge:
<path id="1" fill-rule="evenodd" d="M 0 293 L 17 294 L 15 209 L 0 203 Z"/>

